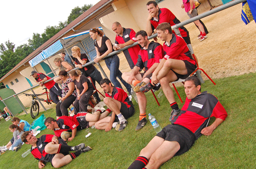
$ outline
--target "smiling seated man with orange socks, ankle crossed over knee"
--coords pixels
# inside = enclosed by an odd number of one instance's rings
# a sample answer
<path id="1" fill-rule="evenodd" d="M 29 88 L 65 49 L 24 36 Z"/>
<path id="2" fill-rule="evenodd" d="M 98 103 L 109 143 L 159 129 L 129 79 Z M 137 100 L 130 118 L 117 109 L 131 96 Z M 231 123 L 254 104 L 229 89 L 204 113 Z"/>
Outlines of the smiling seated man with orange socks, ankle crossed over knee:
<path id="1" fill-rule="evenodd" d="M 138 62 L 135 65 L 132 72 L 124 72 L 122 78 L 134 85 L 134 92 L 136 92 L 138 98 L 138 104 L 140 109 L 140 119 L 135 130 L 138 131 L 146 124 L 146 96 L 143 92 L 140 92 L 140 87 L 150 82 L 152 73 L 157 68 L 159 62 L 163 59 L 163 46 L 157 42 L 150 42 L 147 39 L 145 31 L 139 31 L 135 35 L 136 40 L 141 45 L 139 51 Z M 140 69 L 145 68 L 144 73 L 140 73 Z"/>

